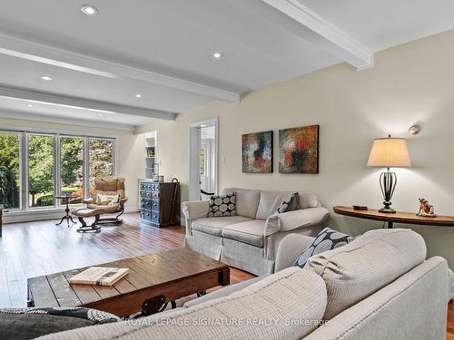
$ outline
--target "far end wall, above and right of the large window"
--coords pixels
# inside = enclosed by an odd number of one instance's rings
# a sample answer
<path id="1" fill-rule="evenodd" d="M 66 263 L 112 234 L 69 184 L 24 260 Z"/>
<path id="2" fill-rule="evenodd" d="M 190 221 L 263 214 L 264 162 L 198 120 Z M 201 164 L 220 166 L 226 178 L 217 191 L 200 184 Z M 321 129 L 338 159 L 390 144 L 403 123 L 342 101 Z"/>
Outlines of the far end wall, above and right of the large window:
<path id="1" fill-rule="evenodd" d="M 20 113 L 17 113 L 20 116 Z M 9 118 L 0 118 L 0 127 L 12 127 L 27 129 L 30 131 L 62 131 L 62 132 L 84 132 L 94 135 L 105 135 L 118 139 L 118 176 L 125 178 L 126 195 L 129 198 L 126 209 L 132 210 L 138 207 L 138 185 L 137 180 L 143 177 L 145 171 L 143 134 L 136 135 L 133 131 L 101 129 L 89 126 L 71 124 L 57 124 L 40 121 L 24 121 Z"/>

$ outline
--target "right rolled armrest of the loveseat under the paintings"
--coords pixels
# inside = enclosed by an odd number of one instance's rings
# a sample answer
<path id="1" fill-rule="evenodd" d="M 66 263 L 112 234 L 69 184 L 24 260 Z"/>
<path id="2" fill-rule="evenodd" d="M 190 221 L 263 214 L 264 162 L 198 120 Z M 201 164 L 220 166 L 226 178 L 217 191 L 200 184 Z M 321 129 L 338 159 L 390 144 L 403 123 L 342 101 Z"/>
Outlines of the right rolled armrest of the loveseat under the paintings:
<path id="1" fill-rule="evenodd" d="M 322 207 L 298 209 L 281 214 L 274 214 L 266 220 L 264 235 L 270 236 L 279 231 L 289 231 L 296 228 L 321 224 L 329 218 L 330 211 Z"/>

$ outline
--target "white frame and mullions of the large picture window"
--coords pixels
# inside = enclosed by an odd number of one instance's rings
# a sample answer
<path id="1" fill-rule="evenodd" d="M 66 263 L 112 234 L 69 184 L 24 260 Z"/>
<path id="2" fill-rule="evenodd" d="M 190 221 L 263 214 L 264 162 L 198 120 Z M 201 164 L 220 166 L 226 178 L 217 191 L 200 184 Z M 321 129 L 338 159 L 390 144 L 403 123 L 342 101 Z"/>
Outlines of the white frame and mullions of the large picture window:
<path id="1" fill-rule="evenodd" d="M 46 135 L 54 137 L 54 196 L 61 191 L 61 145 L 60 140 L 62 137 L 66 138 L 82 138 L 84 147 L 84 198 L 88 197 L 89 194 L 89 140 L 108 140 L 113 142 L 113 175 L 118 174 L 118 140 L 119 137 L 116 135 L 106 134 L 87 134 L 84 132 L 77 131 L 53 131 L 53 130 L 28 130 L 18 129 L 0 125 L 0 131 L 5 133 L 17 133 L 19 136 L 19 193 L 20 193 L 20 208 L 15 209 L 4 209 L 5 214 L 10 213 L 26 213 L 36 211 L 55 211 L 64 209 L 64 204 L 60 199 L 54 199 L 53 207 L 29 207 L 29 150 L 28 150 L 28 139 L 30 134 Z"/>

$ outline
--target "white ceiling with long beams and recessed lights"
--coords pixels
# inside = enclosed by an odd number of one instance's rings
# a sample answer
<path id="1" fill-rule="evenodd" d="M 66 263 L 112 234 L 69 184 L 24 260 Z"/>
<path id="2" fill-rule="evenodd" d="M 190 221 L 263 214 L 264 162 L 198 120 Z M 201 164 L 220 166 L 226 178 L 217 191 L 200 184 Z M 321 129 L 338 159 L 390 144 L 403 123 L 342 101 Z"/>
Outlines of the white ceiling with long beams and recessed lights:
<path id="1" fill-rule="evenodd" d="M 297 1 L 302 10 L 292 19 L 282 5 Z M 0 116 L 16 112 L 28 119 L 77 118 L 133 129 L 153 117 L 173 119 L 167 112 L 186 112 L 215 100 L 235 102 L 244 92 L 334 63 L 359 66 L 351 60 L 360 53 L 367 60 L 369 52 L 454 28 L 450 0 L 88 3 L 98 8 L 98 15 L 84 15 L 80 0 L 2 1 L 0 87 L 6 90 L 0 88 Z M 299 19 L 311 11 L 324 28 Z M 326 39 L 326 29 L 340 34 L 347 45 Z M 212 58 L 215 51 L 221 59 Z M 92 70 L 74 71 L 55 62 Z M 54 80 L 45 82 L 42 75 Z M 27 92 L 18 98 L 10 88 Z M 28 107 L 27 99 L 40 93 L 50 94 L 47 103 Z M 142 98 L 135 98 L 136 93 Z M 81 99 L 84 109 L 75 109 Z M 103 116 L 85 110 L 100 107 L 108 108 Z"/>

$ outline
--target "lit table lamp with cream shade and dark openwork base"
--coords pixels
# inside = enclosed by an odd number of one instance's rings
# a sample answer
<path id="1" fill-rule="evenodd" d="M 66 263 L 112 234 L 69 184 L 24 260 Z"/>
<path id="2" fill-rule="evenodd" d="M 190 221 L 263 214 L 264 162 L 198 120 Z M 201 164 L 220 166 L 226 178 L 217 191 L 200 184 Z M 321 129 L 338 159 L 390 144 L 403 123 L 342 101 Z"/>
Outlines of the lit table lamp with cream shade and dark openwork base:
<path id="1" fill-rule="evenodd" d="M 368 167 L 381 167 L 387 170 L 381 172 L 380 189 L 383 194 L 384 207 L 380 212 L 395 213 L 396 210 L 390 208 L 392 194 L 396 189 L 397 176 L 395 172 L 391 172 L 390 168 L 410 167 L 411 160 L 407 141 L 403 138 L 379 138 L 373 141 L 372 149 L 370 150 Z"/>

